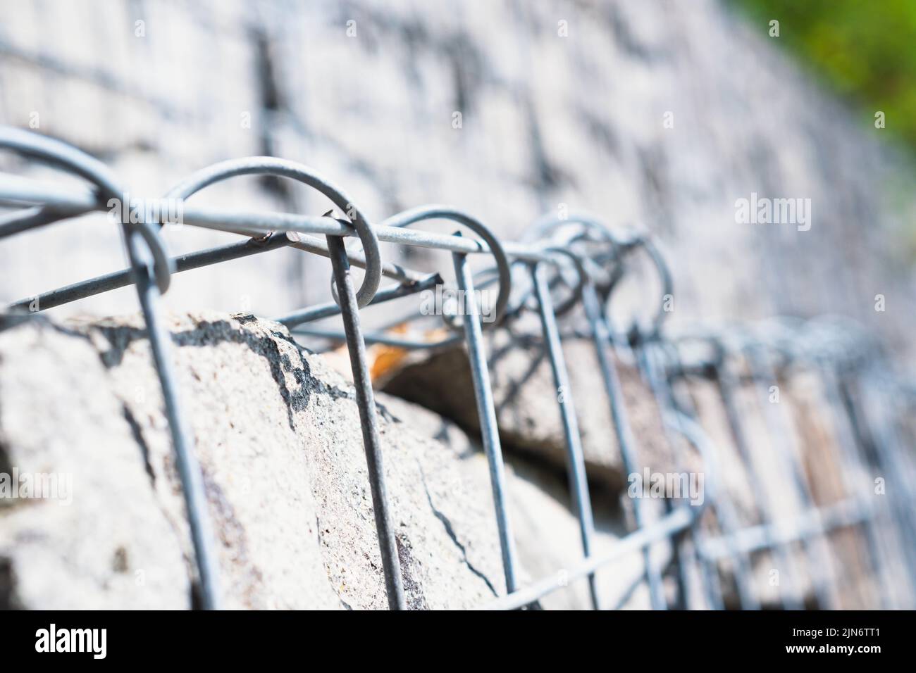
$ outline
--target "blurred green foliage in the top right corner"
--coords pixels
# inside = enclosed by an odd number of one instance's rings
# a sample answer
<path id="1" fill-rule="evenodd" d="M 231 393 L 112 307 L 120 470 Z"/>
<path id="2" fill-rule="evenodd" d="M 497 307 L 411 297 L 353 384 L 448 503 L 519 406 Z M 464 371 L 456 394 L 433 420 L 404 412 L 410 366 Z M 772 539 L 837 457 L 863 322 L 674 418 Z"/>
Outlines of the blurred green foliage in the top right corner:
<path id="1" fill-rule="evenodd" d="M 731 0 L 765 35 L 811 64 L 874 125 L 916 150 L 916 0 Z"/>

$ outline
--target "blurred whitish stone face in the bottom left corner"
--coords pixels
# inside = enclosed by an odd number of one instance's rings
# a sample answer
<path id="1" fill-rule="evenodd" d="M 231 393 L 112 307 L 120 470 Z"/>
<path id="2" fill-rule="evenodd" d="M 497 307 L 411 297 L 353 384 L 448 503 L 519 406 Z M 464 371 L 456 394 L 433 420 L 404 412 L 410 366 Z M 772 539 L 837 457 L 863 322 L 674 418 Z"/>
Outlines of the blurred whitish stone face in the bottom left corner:
<path id="1" fill-rule="evenodd" d="M 0 608 L 190 606 L 183 532 L 81 335 L 38 322 L 0 332 L 0 472 L 13 468 L 69 478 L 71 497 L 0 498 Z"/>

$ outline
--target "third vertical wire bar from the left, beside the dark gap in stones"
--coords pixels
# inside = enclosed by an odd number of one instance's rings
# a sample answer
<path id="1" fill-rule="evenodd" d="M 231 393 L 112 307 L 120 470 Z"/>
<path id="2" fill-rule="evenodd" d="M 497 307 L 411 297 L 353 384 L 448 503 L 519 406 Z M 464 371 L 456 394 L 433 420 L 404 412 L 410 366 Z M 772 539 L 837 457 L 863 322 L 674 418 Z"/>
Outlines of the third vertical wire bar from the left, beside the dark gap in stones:
<path id="1" fill-rule="evenodd" d="M 490 386 L 490 373 L 486 367 L 484 331 L 478 317 L 480 311 L 474 295 L 474 276 L 467 264 L 467 255 L 453 253 L 452 260 L 458 289 L 463 292 L 464 297 L 464 339 L 467 342 L 471 378 L 474 381 L 474 398 L 477 402 L 477 418 L 480 421 L 480 437 L 490 469 L 490 485 L 493 488 L 496 529 L 499 534 L 499 549 L 503 557 L 506 590 L 512 593 L 518 589 L 518 558 L 506 506 L 506 467 L 503 462 L 502 445 L 499 442 L 499 430 L 496 427 L 493 388 Z"/>

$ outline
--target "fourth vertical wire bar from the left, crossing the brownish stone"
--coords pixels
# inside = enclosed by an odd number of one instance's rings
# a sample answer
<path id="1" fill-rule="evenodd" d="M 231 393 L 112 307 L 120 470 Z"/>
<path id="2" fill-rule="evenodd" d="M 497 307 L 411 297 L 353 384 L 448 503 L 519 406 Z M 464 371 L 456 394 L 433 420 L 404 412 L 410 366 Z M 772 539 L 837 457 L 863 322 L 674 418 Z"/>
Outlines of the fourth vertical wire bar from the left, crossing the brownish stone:
<path id="1" fill-rule="evenodd" d="M 557 387 L 557 399 L 560 404 L 560 416 L 563 422 L 563 434 L 566 440 L 566 454 L 569 460 L 570 491 L 573 494 L 573 505 L 579 517 L 579 532 L 582 536 L 582 548 L 585 558 L 592 555 L 592 537 L 594 537 L 594 520 L 592 516 L 592 502 L 588 494 L 588 482 L 585 479 L 585 459 L 583 457 L 582 440 L 579 435 L 579 424 L 575 417 L 573 407 L 573 393 L 570 390 L 569 373 L 563 358 L 560 331 L 557 329 L 556 315 L 553 312 L 551 288 L 544 276 L 540 264 L 530 266 L 531 279 L 534 283 L 534 294 L 538 299 L 538 312 L 540 325 L 544 332 L 544 342 L 547 354 L 551 361 L 553 383 Z M 592 595 L 592 606 L 595 610 L 601 609 L 598 600 L 598 588 L 595 584 L 594 572 L 588 576 L 588 588 Z"/>

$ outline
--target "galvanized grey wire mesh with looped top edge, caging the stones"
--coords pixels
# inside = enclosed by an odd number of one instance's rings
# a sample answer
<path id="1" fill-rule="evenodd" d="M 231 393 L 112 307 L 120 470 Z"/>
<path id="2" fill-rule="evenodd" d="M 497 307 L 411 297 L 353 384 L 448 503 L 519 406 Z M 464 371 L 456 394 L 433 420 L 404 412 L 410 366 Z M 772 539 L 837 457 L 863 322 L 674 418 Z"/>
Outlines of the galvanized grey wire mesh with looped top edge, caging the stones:
<path id="1" fill-rule="evenodd" d="M 13 209 L 0 216 L 0 238 L 25 233 L 58 223 L 85 212 L 111 211 L 125 190 L 99 161 L 64 143 L 12 128 L 0 128 L 0 147 L 49 163 L 84 179 L 82 190 L 37 182 L 14 175 L 0 175 L 0 201 Z M 194 206 L 188 200 L 195 192 L 215 182 L 242 175 L 271 175 L 299 180 L 322 192 L 345 213 L 335 218 L 284 212 L 218 211 Z M 167 222 L 164 213 L 174 214 L 180 204 L 180 222 L 245 236 L 191 255 L 169 257 L 160 235 Z M 469 230 L 470 236 L 442 235 L 414 231 L 409 227 L 429 220 L 448 220 Z M 911 487 L 916 468 L 909 450 L 910 428 L 906 413 L 912 388 L 892 374 L 878 344 L 855 326 L 838 319 L 808 321 L 773 320 L 753 328 L 736 326 L 695 329 L 680 335 L 663 330 L 664 300 L 671 297 L 671 275 L 659 250 L 647 235 L 618 233 L 594 217 L 548 218 L 530 228 L 524 242 L 501 241 L 484 223 L 449 206 L 423 206 L 398 213 L 382 223 L 369 223 L 353 202 L 327 179 L 311 168 L 275 157 L 248 157 L 204 168 L 182 180 L 162 199 L 146 200 L 144 206 L 120 221 L 130 267 L 124 271 L 91 278 L 66 288 L 14 302 L 5 324 L 27 320 L 39 311 L 83 299 L 114 288 L 136 287 L 147 324 L 171 439 L 183 486 L 197 580 L 202 588 L 203 606 L 220 607 L 218 564 L 213 549 L 213 532 L 207 514 L 200 467 L 194 458 L 185 420 L 182 418 L 180 389 L 171 371 L 169 338 L 159 318 L 159 298 L 169 290 L 171 274 L 247 255 L 262 255 L 283 247 L 294 247 L 329 257 L 333 266 L 335 300 L 296 310 L 278 321 L 294 334 L 338 338 L 346 343 L 354 377 L 355 397 L 363 429 L 372 501 L 376 516 L 378 544 L 383 561 L 388 602 L 392 609 L 405 607 L 397 548 L 389 521 L 387 488 L 382 466 L 373 386 L 366 363 L 365 344 L 384 342 L 402 348 L 434 349 L 463 343 L 471 368 L 481 442 L 489 464 L 495 516 L 502 551 L 507 595 L 483 605 L 485 608 L 516 609 L 537 604 L 550 592 L 562 590 L 572 581 L 587 581 L 595 609 L 607 607 L 596 589 L 594 577 L 613 571 L 617 559 L 640 554 L 642 581 L 649 587 L 655 609 L 702 604 L 723 608 L 736 604 L 744 609 L 763 605 L 754 587 L 755 555 L 768 552 L 774 565 L 784 570 L 777 601 L 785 608 L 801 608 L 806 599 L 823 608 L 835 607 L 845 569 L 836 567 L 831 547 L 835 531 L 853 529 L 859 534 L 866 556 L 867 572 L 877 582 L 875 604 L 883 607 L 910 606 L 916 578 L 916 521 Z M 359 250 L 348 250 L 346 238 L 360 240 Z M 452 334 L 439 342 L 427 342 L 385 332 L 364 334 L 360 309 L 398 299 L 442 285 L 438 274 L 420 273 L 382 259 L 379 242 L 436 248 L 453 256 L 456 288 L 462 302 L 453 313 L 443 316 Z M 627 274 L 628 261 L 640 253 L 649 255 L 660 277 L 658 310 L 647 324 L 619 329 L 607 310 L 618 282 Z M 485 255 L 494 266 L 472 273 L 469 255 Z M 359 288 L 354 285 L 352 267 L 365 270 Z M 395 282 L 379 288 L 383 277 Z M 480 320 L 475 289 L 496 285 L 494 320 Z M 563 290 L 562 288 L 566 289 Z M 559 294 L 558 294 L 559 290 Z M 555 296 L 565 297 L 555 299 Z M 612 412 L 616 443 L 623 468 L 636 474 L 643 467 L 638 441 L 630 427 L 624 390 L 617 372 L 620 358 L 638 364 L 660 408 L 671 445 L 681 441 L 700 457 L 706 477 L 702 503 L 686 497 L 666 501 L 663 516 L 653 516 L 642 498 L 633 499 L 635 526 L 612 551 L 594 552 L 594 521 L 582 439 L 578 429 L 569 374 L 564 363 L 563 332 L 558 318 L 575 311 L 584 318 L 581 336 L 594 344 L 607 403 Z M 565 569 L 562 576 L 550 576 L 522 585 L 518 555 L 507 514 L 507 487 L 493 390 L 487 366 L 485 329 L 499 329 L 500 323 L 526 312 L 535 313 L 551 373 L 558 390 L 558 410 L 572 494 L 582 542 L 582 560 Z M 341 315 L 342 332 L 315 330 L 307 323 Z M 418 316 L 419 317 L 419 316 Z M 841 473 L 845 496 L 824 503 L 812 493 L 811 456 L 800 446 L 784 407 L 768 404 L 771 386 L 800 373 L 818 381 L 826 408 L 838 429 L 830 461 Z M 689 386 L 693 380 L 712 382 L 725 409 L 731 443 L 746 470 L 747 484 L 757 521 L 743 522 L 721 476 L 722 447 L 715 446 L 703 429 L 703 418 L 692 407 Z M 760 442 L 749 441 L 749 432 L 738 405 L 738 391 L 759 396 L 765 421 L 766 455 Z M 756 438 L 760 439 L 760 438 Z M 686 460 L 680 456 L 681 461 Z M 769 461 L 780 475 L 780 494 L 791 494 L 800 504 L 793 516 L 783 516 L 773 506 L 773 494 L 762 483 L 757 466 Z M 872 488 L 873 483 L 879 483 Z M 675 562 L 668 572 L 676 591 L 666 591 L 663 569 L 653 560 L 653 545 L 669 545 Z M 805 566 L 811 578 L 809 596 L 797 580 Z M 702 601 L 688 601 L 693 573 L 702 578 Z M 729 602 L 727 596 L 736 600 Z"/>

